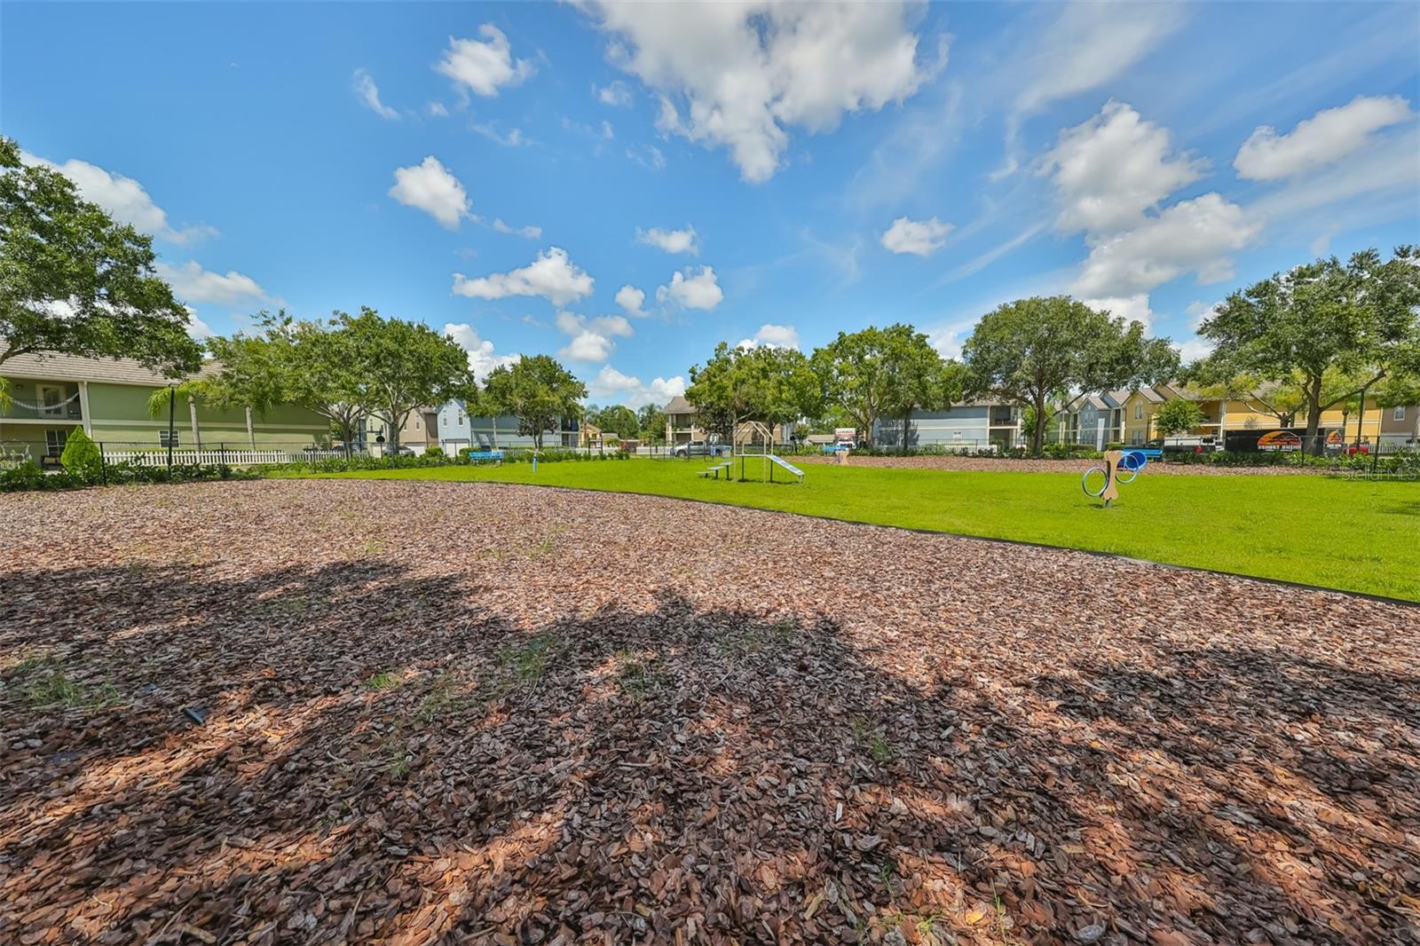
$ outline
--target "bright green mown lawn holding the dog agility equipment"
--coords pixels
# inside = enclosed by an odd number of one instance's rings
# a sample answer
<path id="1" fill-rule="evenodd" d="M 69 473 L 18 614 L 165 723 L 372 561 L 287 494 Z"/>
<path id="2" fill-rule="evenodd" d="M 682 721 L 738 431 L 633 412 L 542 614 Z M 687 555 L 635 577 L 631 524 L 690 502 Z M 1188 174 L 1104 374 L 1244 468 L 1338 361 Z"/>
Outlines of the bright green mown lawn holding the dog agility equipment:
<path id="1" fill-rule="evenodd" d="M 1420 601 L 1420 483 L 1149 476 L 1105 510 L 1074 473 L 808 464 L 802 486 L 707 480 L 709 462 L 444 466 L 342 477 L 540 483 L 1014 538 Z M 751 462 L 751 467 L 757 467 Z M 754 470 L 757 476 L 758 470 Z M 782 470 L 775 472 L 775 479 Z M 1088 578 L 1082 577 L 1082 581 Z"/>

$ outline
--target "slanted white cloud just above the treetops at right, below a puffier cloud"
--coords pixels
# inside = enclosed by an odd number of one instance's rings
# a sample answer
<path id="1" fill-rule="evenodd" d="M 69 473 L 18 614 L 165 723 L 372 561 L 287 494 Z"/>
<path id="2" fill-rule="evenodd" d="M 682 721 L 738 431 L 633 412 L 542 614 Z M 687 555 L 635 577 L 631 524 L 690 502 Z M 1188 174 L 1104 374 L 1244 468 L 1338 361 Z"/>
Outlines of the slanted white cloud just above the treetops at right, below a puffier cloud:
<path id="1" fill-rule="evenodd" d="M 1095 243 L 1075 291 L 1091 298 L 1137 295 L 1189 271 L 1200 283 L 1220 283 L 1233 278 L 1228 254 L 1260 230 L 1242 207 L 1216 193 L 1183 200 Z"/>

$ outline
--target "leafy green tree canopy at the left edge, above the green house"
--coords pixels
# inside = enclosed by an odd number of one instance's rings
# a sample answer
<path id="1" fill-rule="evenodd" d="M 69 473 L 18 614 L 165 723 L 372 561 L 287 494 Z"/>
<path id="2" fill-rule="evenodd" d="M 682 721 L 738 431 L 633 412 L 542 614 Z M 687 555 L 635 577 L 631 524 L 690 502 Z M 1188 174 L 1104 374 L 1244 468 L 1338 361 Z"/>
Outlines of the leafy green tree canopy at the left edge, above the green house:
<path id="1" fill-rule="evenodd" d="M 0 138 L 0 364 L 62 352 L 135 358 L 172 378 L 195 372 L 202 347 L 153 261 L 151 237 Z"/>

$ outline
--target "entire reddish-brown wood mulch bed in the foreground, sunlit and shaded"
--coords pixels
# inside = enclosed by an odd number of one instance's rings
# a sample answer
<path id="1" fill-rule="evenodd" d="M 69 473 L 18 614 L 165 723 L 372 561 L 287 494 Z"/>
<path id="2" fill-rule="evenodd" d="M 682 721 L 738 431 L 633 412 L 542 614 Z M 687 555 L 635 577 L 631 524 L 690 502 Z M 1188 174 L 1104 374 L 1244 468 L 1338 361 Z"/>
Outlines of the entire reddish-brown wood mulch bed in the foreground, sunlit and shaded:
<path id="1" fill-rule="evenodd" d="M 486 483 L 0 548 L 4 943 L 1420 942 L 1420 609 Z"/>

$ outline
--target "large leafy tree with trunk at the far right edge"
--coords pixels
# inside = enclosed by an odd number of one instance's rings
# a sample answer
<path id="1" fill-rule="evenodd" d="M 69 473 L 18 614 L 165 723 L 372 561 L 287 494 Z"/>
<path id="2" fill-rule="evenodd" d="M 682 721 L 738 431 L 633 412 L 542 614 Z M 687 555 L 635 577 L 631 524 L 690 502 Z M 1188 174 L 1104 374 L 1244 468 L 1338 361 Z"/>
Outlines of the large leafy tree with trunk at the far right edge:
<path id="1" fill-rule="evenodd" d="M 1294 386 L 1306 437 L 1321 450 L 1322 412 L 1409 371 L 1420 351 L 1420 250 L 1375 249 L 1298 266 L 1238 290 L 1198 332 L 1214 342 L 1197 366 L 1206 381 L 1255 376 Z M 1336 384 L 1338 379 L 1348 379 Z"/>

